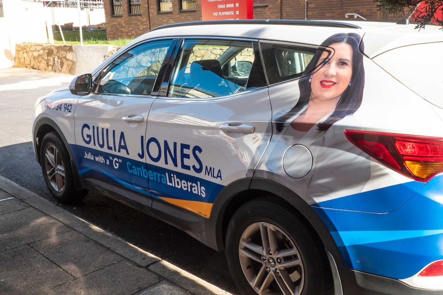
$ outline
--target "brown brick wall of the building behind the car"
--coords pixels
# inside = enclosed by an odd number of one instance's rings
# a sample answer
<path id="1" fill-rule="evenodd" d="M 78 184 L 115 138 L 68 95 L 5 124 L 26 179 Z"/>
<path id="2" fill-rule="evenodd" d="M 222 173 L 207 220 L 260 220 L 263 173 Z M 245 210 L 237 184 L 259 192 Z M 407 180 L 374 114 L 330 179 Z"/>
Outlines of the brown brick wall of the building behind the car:
<path id="1" fill-rule="evenodd" d="M 172 0 L 172 11 L 159 11 L 158 0 L 141 0 L 141 13 L 128 13 L 129 1 L 122 0 L 121 16 L 111 12 L 113 0 L 104 0 L 106 34 L 109 40 L 139 36 L 150 29 L 172 23 L 201 21 L 201 1 L 195 10 L 180 11 L 180 0 Z M 254 7 L 255 19 L 346 19 L 346 13 L 358 13 L 369 20 L 399 19 L 377 11 L 374 0 L 268 0 L 268 5 Z M 349 18 L 349 19 L 354 19 Z M 357 18 L 360 19 L 360 18 Z"/>

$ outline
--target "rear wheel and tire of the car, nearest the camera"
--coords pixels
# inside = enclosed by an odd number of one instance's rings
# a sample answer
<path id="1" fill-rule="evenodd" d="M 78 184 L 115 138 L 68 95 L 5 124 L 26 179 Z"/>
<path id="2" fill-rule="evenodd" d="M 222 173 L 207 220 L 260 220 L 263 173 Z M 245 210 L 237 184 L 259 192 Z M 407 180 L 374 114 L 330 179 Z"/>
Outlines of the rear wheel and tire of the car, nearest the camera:
<path id="1" fill-rule="evenodd" d="M 287 208 L 279 200 L 264 198 L 234 213 L 227 229 L 226 256 L 242 294 L 331 293 L 324 248 Z"/>

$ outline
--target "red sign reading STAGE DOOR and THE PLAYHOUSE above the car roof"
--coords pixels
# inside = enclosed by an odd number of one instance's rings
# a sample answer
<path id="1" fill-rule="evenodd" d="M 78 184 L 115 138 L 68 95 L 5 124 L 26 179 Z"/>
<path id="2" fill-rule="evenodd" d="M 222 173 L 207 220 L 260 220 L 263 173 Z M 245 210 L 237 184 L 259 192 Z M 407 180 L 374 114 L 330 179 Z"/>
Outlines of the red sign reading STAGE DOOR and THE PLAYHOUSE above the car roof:
<path id="1" fill-rule="evenodd" d="M 203 21 L 252 18 L 254 18 L 252 0 L 201 0 Z"/>

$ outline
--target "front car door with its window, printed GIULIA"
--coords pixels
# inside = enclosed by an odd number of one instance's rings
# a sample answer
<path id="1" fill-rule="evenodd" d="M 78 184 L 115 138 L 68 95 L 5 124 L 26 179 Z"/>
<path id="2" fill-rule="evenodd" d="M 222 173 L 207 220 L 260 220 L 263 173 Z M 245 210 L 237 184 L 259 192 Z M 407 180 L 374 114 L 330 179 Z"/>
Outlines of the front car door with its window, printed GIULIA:
<path id="1" fill-rule="evenodd" d="M 143 198 L 149 195 L 149 178 L 140 140 L 156 98 L 152 92 L 160 83 L 159 71 L 175 42 L 151 41 L 122 52 L 97 74 L 95 92 L 80 99 L 75 114 L 80 175 L 104 187 L 141 193 L 138 202 L 147 207 L 150 198 Z"/>

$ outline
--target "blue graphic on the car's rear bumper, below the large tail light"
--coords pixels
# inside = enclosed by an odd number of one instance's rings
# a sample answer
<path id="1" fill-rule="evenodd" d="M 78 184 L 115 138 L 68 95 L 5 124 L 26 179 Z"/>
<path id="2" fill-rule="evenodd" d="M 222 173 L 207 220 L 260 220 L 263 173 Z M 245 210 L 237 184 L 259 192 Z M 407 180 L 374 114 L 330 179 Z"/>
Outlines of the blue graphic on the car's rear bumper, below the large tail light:
<path id="1" fill-rule="evenodd" d="M 414 276 L 429 263 L 443 259 L 443 175 L 434 177 L 424 186 L 421 183 L 407 185 L 411 190 L 413 187 L 422 188 L 412 197 L 411 192 L 404 189 L 404 184 L 372 192 L 373 195 L 381 193 L 385 202 L 392 204 L 402 200 L 399 194 L 407 193 L 404 197 L 407 201 L 387 213 L 323 207 L 329 206 L 330 202 L 312 206 L 328 227 L 347 267 L 383 277 L 405 279 Z M 356 199 L 354 202 L 368 201 L 367 198 L 359 198 L 359 195 L 342 199 L 353 197 Z M 374 198 L 374 202 L 380 202 L 380 199 Z M 360 208 L 365 206 L 367 204 L 362 204 Z"/>

